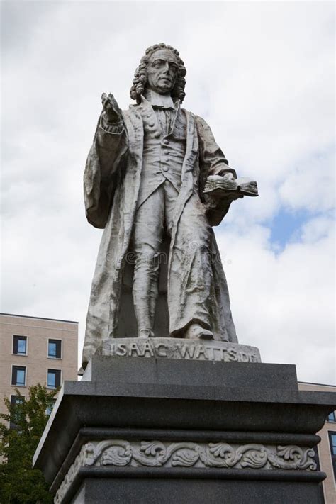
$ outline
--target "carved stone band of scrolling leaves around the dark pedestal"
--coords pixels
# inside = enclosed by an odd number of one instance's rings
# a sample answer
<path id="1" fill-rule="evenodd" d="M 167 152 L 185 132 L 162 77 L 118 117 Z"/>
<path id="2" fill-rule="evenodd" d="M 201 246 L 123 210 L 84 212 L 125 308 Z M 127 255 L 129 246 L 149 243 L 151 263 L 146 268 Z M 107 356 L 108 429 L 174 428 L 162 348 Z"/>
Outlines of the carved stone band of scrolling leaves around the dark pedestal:
<path id="1" fill-rule="evenodd" d="M 82 467 L 184 467 L 217 469 L 286 469 L 315 471 L 314 450 L 264 444 L 124 441 L 106 439 L 82 446 L 55 496 L 61 504 Z"/>

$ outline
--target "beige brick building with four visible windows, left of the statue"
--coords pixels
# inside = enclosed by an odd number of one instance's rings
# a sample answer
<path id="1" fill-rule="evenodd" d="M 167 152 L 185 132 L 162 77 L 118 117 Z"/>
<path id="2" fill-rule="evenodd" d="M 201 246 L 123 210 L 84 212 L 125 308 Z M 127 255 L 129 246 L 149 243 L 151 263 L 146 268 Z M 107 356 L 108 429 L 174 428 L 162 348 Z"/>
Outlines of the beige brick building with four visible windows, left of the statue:
<path id="1" fill-rule="evenodd" d="M 78 323 L 0 313 L 0 413 L 4 397 L 27 396 L 41 383 L 56 388 L 77 380 Z"/>

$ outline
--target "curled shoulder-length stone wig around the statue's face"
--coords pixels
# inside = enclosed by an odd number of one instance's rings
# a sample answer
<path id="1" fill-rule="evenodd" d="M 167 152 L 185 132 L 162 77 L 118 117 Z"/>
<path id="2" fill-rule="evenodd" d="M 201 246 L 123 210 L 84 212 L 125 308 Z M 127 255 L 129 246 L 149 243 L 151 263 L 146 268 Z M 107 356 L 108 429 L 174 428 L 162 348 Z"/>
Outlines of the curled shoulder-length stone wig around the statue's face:
<path id="1" fill-rule="evenodd" d="M 145 56 L 142 56 L 140 60 L 140 65 L 135 70 L 133 86 L 130 88 L 130 97 L 140 103 L 140 96 L 144 93 L 147 84 L 147 65 L 150 60 L 150 56 L 159 49 L 169 49 L 177 57 L 177 80 L 175 82 L 174 88 L 172 89 L 172 98 L 178 98 L 181 102 L 186 94 L 184 93 L 184 87 L 186 86 L 186 67 L 184 67 L 184 62 L 179 57 L 179 51 L 174 49 L 171 45 L 166 45 L 164 43 L 151 45 L 146 49 Z"/>

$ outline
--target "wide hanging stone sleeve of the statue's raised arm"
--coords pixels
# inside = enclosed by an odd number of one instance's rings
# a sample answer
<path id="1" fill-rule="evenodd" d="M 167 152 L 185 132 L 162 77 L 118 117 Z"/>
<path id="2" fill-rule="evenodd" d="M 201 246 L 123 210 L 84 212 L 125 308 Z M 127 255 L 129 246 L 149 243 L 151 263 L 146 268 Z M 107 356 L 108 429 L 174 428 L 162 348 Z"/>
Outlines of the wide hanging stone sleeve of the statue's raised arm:
<path id="1" fill-rule="evenodd" d="M 104 120 L 102 113 L 84 171 L 86 218 L 95 228 L 106 225 L 127 150 L 128 135 L 123 118 L 111 124 Z"/>

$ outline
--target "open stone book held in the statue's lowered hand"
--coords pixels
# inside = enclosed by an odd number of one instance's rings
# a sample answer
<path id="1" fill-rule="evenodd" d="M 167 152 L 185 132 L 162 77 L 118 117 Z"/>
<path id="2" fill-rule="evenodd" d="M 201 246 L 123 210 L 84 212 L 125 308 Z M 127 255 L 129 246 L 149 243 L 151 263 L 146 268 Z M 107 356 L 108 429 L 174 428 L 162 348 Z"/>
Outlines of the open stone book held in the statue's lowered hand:
<path id="1" fill-rule="evenodd" d="M 206 179 L 204 193 L 211 196 L 228 196 L 228 194 L 236 194 L 239 198 L 242 196 L 258 196 L 257 182 L 240 177 L 239 179 L 227 179 L 221 175 L 211 175 Z"/>

